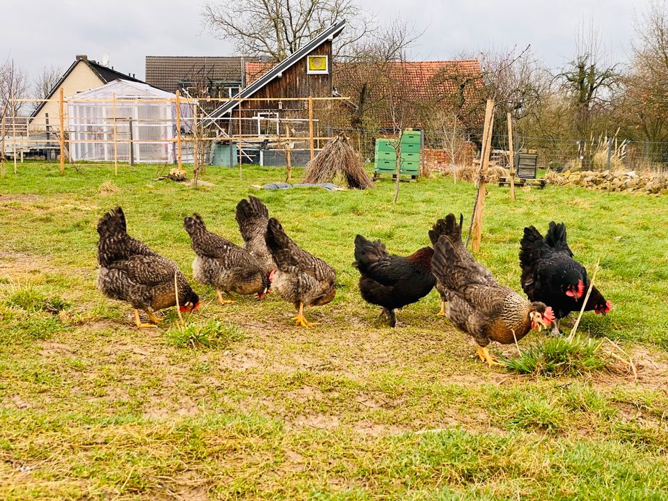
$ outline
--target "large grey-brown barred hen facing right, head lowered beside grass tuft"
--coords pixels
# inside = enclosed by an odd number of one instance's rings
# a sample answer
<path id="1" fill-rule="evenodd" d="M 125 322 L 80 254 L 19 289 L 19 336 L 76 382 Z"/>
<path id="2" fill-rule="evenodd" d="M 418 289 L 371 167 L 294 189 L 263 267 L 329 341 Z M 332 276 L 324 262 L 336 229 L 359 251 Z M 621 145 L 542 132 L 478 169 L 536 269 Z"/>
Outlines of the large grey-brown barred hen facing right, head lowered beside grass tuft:
<path id="1" fill-rule="evenodd" d="M 496 283 L 463 246 L 461 223 L 456 223 L 454 214 L 437 225 L 443 228 L 434 246 L 431 269 L 446 292 L 447 318 L 473 337 L 482 360 L 490 366 L 499 365 L 489 354 L 489 342 L 509 344 L 532 328 L 548 327 L 554 319 L 552 308 L 539 301 L 530 303 L 513 289 Z"/>

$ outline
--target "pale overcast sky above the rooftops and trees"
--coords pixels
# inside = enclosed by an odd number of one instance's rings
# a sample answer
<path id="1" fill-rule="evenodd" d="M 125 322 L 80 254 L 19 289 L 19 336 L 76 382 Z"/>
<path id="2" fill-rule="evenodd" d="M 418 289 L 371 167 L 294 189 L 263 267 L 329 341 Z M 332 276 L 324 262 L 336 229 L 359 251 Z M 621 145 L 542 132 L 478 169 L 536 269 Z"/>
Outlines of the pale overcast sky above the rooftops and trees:
<path id="1" fill-rule="evenodd" d="M 223 3 L 223 2 L 221 2 Z M 575 33 L 594 19 L 616 61 L 628 59 L 633 19 L 649 0 L 360 0 L 380 23 L 409 19 L 424 34 L 411 58 L 437 61 L 461 51 L 531 45 L 550 67 L 574 51 Z M 233 55 L 230 42 L 202 29 L 198 0 L 0 0 L 0 58 L 34 77 L 45 65 L 65 70 L 76 54 L 144 77 L 145 56 Z"/>

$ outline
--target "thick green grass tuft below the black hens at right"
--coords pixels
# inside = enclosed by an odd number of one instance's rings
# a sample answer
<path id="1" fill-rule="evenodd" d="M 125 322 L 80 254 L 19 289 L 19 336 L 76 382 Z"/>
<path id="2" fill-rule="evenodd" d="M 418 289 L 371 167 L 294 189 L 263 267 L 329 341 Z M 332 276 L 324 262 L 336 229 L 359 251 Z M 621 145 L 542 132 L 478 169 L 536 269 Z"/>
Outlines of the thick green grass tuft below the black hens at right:
<path id="1" fill-rule="evenodd" d="M 502 363 L 520 374 L 537 376 L 578 376 L 601 370 L 607 357 L 601 350 L 602 340 L 577 335 L 550 337 L 536 342 L 516 358 L 502 358 Z"/>

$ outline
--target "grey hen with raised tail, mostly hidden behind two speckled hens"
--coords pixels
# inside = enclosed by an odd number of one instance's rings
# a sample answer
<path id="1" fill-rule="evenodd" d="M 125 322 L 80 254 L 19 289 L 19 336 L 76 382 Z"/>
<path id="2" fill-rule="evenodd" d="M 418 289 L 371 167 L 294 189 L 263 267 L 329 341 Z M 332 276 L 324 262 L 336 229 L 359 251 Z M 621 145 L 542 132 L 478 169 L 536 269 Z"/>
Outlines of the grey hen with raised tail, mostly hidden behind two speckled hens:
<path id="1" fill-rule="evenodd" d="M 248 200 L 241 200 L 237 204 L 236 217 L 239 232 L 244 238 L 248 253 L 260 262 L 260 266 L 267 275 L 276 269 L 271 250 L 267 247 L 264 237 L 267 234 L 267 223 L 269 222 L 269 211 L 260 198 L 249 196 Z"/>

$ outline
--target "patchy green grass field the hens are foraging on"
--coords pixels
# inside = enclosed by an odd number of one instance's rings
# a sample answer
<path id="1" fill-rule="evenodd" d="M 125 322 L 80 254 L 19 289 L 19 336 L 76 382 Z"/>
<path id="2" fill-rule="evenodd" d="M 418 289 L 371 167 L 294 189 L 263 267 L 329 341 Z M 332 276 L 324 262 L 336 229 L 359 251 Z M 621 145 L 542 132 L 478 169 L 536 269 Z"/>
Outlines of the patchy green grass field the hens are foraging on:
<path id="1" fill-rule="evenodd" d="M 372 191 L 257 191 L 282 169 L 209 166 L 192 189 L 163 166 L 19 165 L 0 181 L 0 498 L 289 500 L 662 500 L 668 497 L 668 204 L 548 186 L 489 186 L 478 259 L 519 290 L 525 225 L 564 221 L 576 257 L 613 303 L 589 312 L 577 347 L 531 333 L 492 346 L 489 369 L 436 317 L 432 292 L 377 320 L 357 289 L 353 239 L 392 253 L 427 245 L 475 187 L 436 177 Z M 301 172 L 296 169 L 296 176 Z M 97 219 L 122 205 L 130 234 L 191 276 L 183 217 L 241 243 L 234 206 L 253 193 L 337 270 L 337 296 L 307 308 L 269 294 L 166 312 L 138 330 L 129 305 L 95 288 Z M 614 340 L 633 374 L 598 370 Z M 539 346 L 539 348 L 532 348 Z M 619 352 L 621 353 L 621 352 Z M 618 353 L 618 354 L 619 354 Z M 592 370 L 593 369 L 593 370 Z"/>

